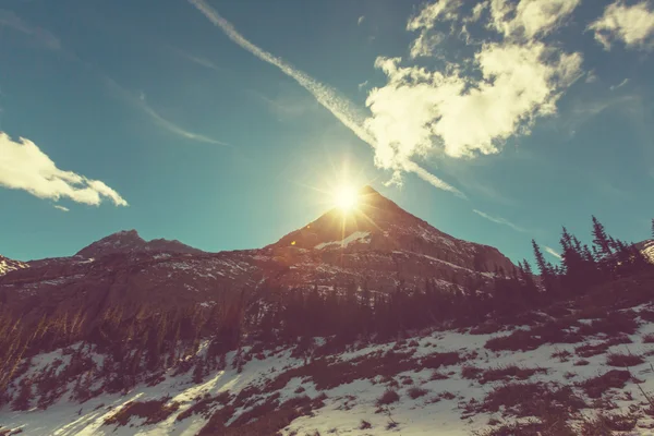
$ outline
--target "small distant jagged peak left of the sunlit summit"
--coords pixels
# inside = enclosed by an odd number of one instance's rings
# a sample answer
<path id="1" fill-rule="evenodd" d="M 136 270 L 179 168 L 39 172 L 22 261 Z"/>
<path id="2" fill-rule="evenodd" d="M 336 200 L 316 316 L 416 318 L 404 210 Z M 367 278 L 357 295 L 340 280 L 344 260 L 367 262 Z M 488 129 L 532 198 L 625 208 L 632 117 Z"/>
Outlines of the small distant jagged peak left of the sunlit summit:
<path id="1" fill-rule="evenodd" d="M 185 245 L 180 241 L 155 239 L 145 241 L 136 230 L 121 230 L 112 233 L 77 252 L 77 256 L 98 258 L 114 253 L 165 252 L 202 254 L 202 250 Z"/>

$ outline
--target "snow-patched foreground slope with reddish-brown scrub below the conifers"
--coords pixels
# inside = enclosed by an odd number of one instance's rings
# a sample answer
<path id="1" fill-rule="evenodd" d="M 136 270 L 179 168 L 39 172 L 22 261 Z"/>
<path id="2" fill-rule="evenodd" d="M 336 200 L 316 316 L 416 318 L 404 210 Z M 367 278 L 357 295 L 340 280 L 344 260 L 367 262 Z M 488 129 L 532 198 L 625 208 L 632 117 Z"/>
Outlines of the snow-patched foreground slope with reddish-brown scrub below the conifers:
<path id="1" fill-rule="evenodd" d="M 640 316 L 631 310 L 611 315 L 639 323 L 630 334 L 602 332 L 610 328 L 602 320 L 579 318 L 568 327 L 559 323 L 560 331 L 583 337 L 529 351 L 494 351 L 510 331 L 475 335 L 479 329 L 427 331 L 337 353 L 320 349 L 319 340 L 300 355 L 288 347 L 246 347 L 239 358 L 229 353 L 225 370 L 207 371 L 198 383 L 191 372 L 168 372 L 154 386 L 144 383 L 123 395 L 101 395 L 83 403 L 72 400 L 69 391 L 45 411 L 14 412 L 5 407 L 0 409 L 0 433 L 190 436 L 271 435 L 279 429 L 288 436 L 463 436 L 474 431 L 536 435 L 544 427 L 534 423 L 553 419 L 547 426 L 568 425 L 572 434 L 613 434 L 600 433 L 594 421 L 600 415 L 622 429 L 632 428 L 616 435 L 652 435 L 647 392 L 654 390 L 649 363 L 654 354 L 653 308 L 633 307 Z M 529 328 L 512 330 L 512 337 Z M 540 327 L 531 328 L 535 332 Z M 26 374 L 58 360 L 66 363 L 74 349 L 35 358 Z M 198 354 L 205 350 L 202 347 Z M 623 367 L 625 361 L 611 355 L 635 361 Z M 101 364 L 102 355 L 93 356 Z M 240 370 L 237 359 L 244 362 Z M 516 423 L 522 429 L 511 427 Z"/>

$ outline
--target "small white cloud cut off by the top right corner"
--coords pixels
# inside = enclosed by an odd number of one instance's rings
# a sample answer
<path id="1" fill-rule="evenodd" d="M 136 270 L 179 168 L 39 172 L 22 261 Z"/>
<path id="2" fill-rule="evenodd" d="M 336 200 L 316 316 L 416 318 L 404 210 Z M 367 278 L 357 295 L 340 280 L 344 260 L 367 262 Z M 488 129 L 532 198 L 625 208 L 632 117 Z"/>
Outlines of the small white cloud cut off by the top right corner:
<path id="1" fill-rule="evenodd" d="M 632 5 L 618 0 L 604 10 L 604 14 L 589 26 L 595 39 L 610 50 L 614 40 L 627 48 L 651 49 L 654 46 L 654 12 L 647 1 Z"/>

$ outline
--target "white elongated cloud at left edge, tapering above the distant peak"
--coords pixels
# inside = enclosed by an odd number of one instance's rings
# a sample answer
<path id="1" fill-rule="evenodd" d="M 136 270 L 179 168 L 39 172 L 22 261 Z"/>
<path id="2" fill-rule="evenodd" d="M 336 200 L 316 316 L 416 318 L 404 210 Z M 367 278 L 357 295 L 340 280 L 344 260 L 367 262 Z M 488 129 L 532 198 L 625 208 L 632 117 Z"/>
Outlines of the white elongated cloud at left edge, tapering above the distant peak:
<path id="1" fill-rule="evenodd" d="M 117 206 L 128 206 L 120 194 L 99 180 L 64 171 L 29 140 L 12 141 L 0 132 L 0 185 L 24 190 L 39 197 L 99 205 L 108 198 Z"/>

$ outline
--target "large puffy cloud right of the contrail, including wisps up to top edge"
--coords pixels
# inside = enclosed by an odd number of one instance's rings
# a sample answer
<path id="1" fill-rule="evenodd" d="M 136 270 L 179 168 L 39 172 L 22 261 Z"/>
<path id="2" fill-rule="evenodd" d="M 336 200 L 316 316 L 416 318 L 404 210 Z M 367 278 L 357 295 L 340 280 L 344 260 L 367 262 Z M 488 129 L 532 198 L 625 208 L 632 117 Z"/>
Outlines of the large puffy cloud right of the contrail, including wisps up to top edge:
<path id="1" fill-rule="evenodd" d="M 429 70 L 400 58 L 378 58 L 376 66 L 386 73 L 387 84 L 371 90 L 366 105 L 372 117 L 365 122 L 378 143 L 378 166 L 392 168 L 433 153 L 457 158 L 496 154 L 509 137 L 528 134 L 538 117 L 555 114 L 557 100 L 582 74 L 582 57 L 541 38 L 578 3 L 493 0 L 492 13 L 480 25 L 496 29 L 500 40 L 475 49 L 474 72 L 467 61 Z M 439 20 L 460 22 L 459 7 L 451 0 L 428 4 L 408 29 L 433 29 Z M 482 20 L 482 12 L 473 11 L 473 17 Z M 412 57 L 416 47 L 422 50 L 417 41 L 425 35 L 431 34 L 421 32 L 411 46 Z"/>

